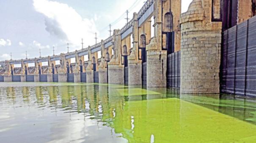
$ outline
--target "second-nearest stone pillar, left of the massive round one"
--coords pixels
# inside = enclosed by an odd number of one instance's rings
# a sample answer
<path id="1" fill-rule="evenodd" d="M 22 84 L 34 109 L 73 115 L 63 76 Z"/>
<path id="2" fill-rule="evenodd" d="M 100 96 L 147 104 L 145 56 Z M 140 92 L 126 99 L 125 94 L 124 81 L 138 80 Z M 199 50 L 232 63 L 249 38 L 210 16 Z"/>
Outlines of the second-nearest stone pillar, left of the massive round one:
<path id="1" fill-rule="evenodd" d="M 154 37 L 146 46 L 147 87 L 166 87 L 167 51 L 162 50 L 162 0 L 154 3 Z"/>

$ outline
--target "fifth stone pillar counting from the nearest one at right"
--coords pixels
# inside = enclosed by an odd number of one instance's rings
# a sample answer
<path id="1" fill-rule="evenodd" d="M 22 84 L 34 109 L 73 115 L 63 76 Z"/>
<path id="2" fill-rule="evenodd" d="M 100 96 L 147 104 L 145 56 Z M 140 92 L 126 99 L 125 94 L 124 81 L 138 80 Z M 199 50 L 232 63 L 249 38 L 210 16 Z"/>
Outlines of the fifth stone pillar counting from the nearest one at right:
<path id="1" fill-rule="evenodd" d="M 105 44 L 101 41 L 101 62 L 99 65 L 99 84 L 107 84 L 107 68 L 105 67 Z"/>

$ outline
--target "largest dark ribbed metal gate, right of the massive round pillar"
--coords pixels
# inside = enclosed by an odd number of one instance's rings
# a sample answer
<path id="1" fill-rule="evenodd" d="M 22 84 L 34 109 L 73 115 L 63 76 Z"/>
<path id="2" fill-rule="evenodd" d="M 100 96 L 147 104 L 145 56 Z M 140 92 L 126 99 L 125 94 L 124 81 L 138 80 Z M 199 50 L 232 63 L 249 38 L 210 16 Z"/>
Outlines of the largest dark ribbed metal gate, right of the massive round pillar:
<path id="1" fill-rule="evenodd" d="M 223 33 L 221 91 L 256 96 L 256 16 Z"/>

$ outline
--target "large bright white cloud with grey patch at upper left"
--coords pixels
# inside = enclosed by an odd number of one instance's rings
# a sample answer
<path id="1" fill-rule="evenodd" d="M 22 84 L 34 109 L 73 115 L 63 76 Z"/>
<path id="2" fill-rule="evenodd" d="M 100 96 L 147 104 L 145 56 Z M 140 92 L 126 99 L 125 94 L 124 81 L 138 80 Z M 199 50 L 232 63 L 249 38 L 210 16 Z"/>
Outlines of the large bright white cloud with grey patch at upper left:
<path id="1" fill-rule="evenodd" d="M 58 36 L 63 41 L 69 41 L 75 45 L 84 39 L 85 45 L 94 44 L 94 33 L 98 32 L 94 19 L 83 19 L 74 8 L 64 3 L 49 0 L 33 0 L 36 11 L 45 15 L 46 30 Z"/>

